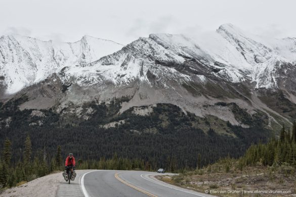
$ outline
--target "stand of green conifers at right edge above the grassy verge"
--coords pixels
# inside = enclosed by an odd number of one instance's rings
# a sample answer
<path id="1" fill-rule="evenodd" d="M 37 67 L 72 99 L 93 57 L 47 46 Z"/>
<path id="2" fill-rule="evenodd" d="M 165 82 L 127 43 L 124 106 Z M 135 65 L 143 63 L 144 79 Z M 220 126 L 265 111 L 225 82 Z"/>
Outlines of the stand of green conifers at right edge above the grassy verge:
<path id="1" fill-rule="evenodd" d="M 251 145 L 239 160 L 239 168 L 244 166 L 289 165 L 296 167 L 296 122 L 292 132 L 283 126 L 279 139 L 273 137 L 268 143 Z"/>

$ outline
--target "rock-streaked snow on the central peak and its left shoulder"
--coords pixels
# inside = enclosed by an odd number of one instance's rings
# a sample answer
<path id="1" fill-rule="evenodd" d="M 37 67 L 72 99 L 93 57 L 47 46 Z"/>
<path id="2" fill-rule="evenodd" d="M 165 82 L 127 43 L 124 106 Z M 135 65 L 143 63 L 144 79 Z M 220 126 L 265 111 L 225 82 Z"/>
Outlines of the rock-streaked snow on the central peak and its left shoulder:
<path id="1" fill-rule="evenodd" d="M 82 86 L 99 85 L 111 82 L 115 85 L 129 84 L 134 80 L 146 80 L 147 72 L 153 72 L 157 76 L 166 79 L 179 80 L 184 77 L 174 68 L 157 65 L 154 61 L 168 61 L 172 64 L 181 64 L 184 58 L 166 50 L 149 38 L 140 38 L 123 47 L 122 50 L 101 58 L 88 65 L 72 66 L 63 70 L 64 81 L 75 78 L 75 82 Z M 172 78 L 173 77 L 173 78 Z"/>

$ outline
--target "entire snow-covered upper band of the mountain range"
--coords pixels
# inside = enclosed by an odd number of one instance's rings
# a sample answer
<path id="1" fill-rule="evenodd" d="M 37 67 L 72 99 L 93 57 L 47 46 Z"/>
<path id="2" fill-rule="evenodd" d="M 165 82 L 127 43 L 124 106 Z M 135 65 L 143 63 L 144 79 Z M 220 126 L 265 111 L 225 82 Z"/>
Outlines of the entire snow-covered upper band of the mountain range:
<path id="1" fill-rule="evenodd" d="M 162 85 L 166 79 L 204 83 L 220 78 L 231 83 L 256 82 L 255 88 L 278 88 L 286 65 L 292 68 L 296 59 L 296 38 L 260 39 L 231 24 L 206 36 L 150 34 L 122 47 L 91 36 L 58 44 L 2 36 L 0 83 L 7 86 L 7 93 L 14 93 L 67 67 L 62 71 L 63 81 L 75 79 L 83 86 L 150 82 L 147 74 L 152 74 L 159 76 Z"/>

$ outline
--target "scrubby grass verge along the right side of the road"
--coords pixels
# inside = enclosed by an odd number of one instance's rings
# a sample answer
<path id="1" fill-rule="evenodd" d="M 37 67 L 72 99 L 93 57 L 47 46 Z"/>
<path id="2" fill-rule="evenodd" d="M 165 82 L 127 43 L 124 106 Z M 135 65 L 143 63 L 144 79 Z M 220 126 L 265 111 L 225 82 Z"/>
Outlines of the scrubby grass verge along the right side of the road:
<path id="1" fill-rule="evenodd" d="M 202 169 L 183 172 L 176 176 L 158 175 L 161 181 L 216 196 L 242 196 L 242 190 L 281 190 L 291 193 L 243 194 L 243 196 L 296 196 L 296 169 L 287 166 L 256 165 L 239 169 L 237 160 L 221 160 Z M 226 191 L 226 193 L 222 193 Z M 211 194 L 211 193 L 209 193 Z"/>

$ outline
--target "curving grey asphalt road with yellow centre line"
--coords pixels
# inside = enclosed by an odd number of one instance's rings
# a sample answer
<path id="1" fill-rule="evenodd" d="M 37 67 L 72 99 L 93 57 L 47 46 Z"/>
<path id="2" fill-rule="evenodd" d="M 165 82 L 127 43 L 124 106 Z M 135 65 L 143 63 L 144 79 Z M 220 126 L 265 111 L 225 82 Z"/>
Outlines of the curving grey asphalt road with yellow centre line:
<path id="1" fill-rule="evenodd" d="M 84 173 L 81 176 L 80 183 L 82 193 L 86 197 L 213 196 L 164 183 L 154 178 L 154 175 L 157 175 L 157 173 L 145 171 L 96 170 Z"/>

